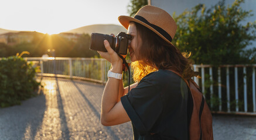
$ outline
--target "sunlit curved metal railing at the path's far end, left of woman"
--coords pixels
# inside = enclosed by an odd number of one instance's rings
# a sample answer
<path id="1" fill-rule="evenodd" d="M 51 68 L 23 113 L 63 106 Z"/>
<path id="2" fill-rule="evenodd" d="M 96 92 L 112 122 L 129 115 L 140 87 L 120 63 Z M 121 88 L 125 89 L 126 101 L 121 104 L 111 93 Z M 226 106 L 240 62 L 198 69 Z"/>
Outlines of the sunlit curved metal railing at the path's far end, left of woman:
<path id="1" fill-rule="evenodd" d="M 61 78 L 84 79 L 106 83 L 110 63 L 102 58 L 62 58 L 32 57 L 25 58 L 37 67 L 37 75 Z"/>

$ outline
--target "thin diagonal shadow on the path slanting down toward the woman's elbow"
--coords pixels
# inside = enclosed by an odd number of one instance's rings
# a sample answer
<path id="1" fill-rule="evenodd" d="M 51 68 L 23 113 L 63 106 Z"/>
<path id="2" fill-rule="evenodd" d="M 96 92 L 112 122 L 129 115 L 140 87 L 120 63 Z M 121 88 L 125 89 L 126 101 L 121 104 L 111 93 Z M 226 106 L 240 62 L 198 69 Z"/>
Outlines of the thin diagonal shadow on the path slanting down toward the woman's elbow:
<path id="1" fill-rule="evenodd" d="M 100 120 L 100 113 L 97 111 L 97 109 L 93 106 L 93 104 L 91 103 L 91 101 L 86 97 L 86 95 L 84 95 L 84 93 L 81 91 L 81 89 L 77 86 L 77 83 L 72 81 L 73 85 L 76 87 L 76 89 L 78 90 L 78 92 L 81 94 L 81 96 L 83 96 L 84 100 L 86 100 L 86 102 L 88 103 L 88 105 L 90 106 L 91 110 L 93 110 L 93 113 L 97 116 L 98 120 Z M 98 124 L 95 124 L 98 125 Z M 100 124 L 101 125 L 101 124 Z M 103 125 L 102 125 L 103 126 Z M 104 127 L 104 126 L 103 126 Z M 104 127 L 104 129 L 107 130 L 108 134 L 110 134 L 112 136 L 112 138 L 114 139 L 120 139 L 115 132 L 111 129 L 111 127 Z"/>

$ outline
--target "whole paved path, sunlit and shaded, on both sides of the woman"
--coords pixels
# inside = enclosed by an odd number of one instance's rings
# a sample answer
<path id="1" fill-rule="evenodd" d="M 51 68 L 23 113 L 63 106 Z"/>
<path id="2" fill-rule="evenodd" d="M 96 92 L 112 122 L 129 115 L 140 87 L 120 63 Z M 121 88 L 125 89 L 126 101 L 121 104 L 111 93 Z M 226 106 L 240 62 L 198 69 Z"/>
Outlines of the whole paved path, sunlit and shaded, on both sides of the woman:
<path id="1" fill-rule="evenodd" d="M 100 123 L 104 86 L 43 78 L 43 94 L 0 108 L 0 139 L 132 139 L 130 122 Z M 214 139 L 256 139 L 256 117 L 213 116 Z"/>

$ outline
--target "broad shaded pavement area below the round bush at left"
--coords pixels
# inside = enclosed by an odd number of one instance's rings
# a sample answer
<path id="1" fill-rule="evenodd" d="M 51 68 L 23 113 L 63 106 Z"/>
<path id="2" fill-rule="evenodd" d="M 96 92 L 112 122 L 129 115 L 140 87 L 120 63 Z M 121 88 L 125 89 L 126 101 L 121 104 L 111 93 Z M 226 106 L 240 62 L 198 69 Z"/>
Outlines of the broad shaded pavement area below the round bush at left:
<path id="1" fill-rule="evenodd" d="M 19 106 L 0 108 L 0 139 L 35 139 L 46 111 L 44 94 Z"/>

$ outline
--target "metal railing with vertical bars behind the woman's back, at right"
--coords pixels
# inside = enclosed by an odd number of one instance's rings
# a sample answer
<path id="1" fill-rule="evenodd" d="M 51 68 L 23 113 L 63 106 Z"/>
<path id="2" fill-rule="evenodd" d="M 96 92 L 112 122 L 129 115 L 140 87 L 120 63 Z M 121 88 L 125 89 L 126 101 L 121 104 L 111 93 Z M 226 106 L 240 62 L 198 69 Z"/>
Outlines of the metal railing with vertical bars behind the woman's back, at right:
<path id="1" fill-rule="evenodd" d="M 193 78 L 217 112 L 256 115 L 256 65 L 193 65 L 201 78 Z M 209 103 L 208 102 L 208 103 Z M 214 104 L 215 103 L 215 104 Z M 217 103 L 217 106 L 216 106 Z"/>

